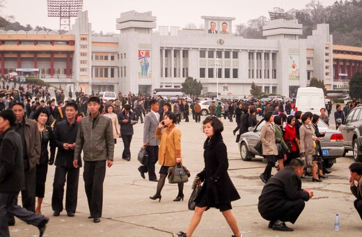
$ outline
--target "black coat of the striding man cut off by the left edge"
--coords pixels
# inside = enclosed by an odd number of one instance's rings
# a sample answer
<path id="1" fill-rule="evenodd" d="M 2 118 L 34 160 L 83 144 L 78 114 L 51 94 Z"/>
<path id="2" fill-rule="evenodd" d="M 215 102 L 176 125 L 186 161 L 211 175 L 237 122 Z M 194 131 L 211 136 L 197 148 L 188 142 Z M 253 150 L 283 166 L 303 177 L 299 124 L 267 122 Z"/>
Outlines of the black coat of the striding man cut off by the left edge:
<path id="1" fill-rule="evenodd" d="M 0 192 L 19 192 L 24 188 L 22 139 L 8 128 L 0 146 Z"/>

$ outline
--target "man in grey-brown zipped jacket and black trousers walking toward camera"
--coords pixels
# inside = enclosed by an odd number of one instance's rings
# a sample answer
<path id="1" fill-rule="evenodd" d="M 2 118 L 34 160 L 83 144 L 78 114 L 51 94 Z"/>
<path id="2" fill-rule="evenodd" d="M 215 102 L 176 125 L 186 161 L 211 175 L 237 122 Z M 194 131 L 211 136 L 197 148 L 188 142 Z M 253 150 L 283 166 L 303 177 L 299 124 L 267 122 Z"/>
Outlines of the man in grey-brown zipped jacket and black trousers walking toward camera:
<path id="1" fill-rule="evenodd" d="M 92 96 L 88 99 L 89 114 L 79 122 L 77 140 L 75 142 L 73 165 L 78 168 L 78 160 L 83 150 L 84 186 L 88 206 L 93 222 L 100 222 L 103 204 L 103 181 L 106 176 L 106 165 L 113 165 L 114 139 L 111 119 L 101 116 L 100 98 Z"/>

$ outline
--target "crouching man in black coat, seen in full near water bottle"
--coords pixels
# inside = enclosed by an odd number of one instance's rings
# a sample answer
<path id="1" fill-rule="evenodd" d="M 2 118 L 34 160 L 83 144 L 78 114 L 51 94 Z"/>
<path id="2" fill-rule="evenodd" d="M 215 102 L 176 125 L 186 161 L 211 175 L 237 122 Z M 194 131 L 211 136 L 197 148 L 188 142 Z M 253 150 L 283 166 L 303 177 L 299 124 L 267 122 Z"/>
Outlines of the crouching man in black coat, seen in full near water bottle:
<path id="1" fill-rule="evenodd" d="M 285 222 L 294 222 L 304 209 L 304 201 L 313 197 L 310 190 L 301 189 L 304 162 L 293 159 L 290 166 L 270 178 L 259 197 L 260 215 L 269 220 L 268 228 L 276 231 L 293 231 Z"/>

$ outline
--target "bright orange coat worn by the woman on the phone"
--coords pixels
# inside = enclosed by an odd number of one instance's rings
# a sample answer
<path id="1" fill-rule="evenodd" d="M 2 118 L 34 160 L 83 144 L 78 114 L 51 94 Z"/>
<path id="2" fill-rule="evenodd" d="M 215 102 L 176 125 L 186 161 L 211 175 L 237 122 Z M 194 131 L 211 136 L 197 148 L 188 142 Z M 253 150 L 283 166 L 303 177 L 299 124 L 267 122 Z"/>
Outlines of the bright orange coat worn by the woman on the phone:
<path id="1" fill-rule="evenodd" d="M 181 131 L 172 124 L 169 128 L 157 128 L 159 141 L 159 165 L 174 166 L 176 158 L 181 158 Z"/>

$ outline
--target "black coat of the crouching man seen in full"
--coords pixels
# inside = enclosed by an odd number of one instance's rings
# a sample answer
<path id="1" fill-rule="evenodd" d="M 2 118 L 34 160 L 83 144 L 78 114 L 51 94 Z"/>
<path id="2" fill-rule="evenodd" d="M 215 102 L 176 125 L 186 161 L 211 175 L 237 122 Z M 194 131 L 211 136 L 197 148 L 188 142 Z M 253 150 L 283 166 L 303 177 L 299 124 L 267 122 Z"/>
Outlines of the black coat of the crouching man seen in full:
<path id="1" fill-rule="evenodd" d="M 308 201 L 309 194 L 301 189 L 301 178 L 294 169 L 285 167 L 270 178 L 262 188 L 258 211 L 259 213 L 269 213 L 283 206 L 286 201 L 298 199 Z"/>

